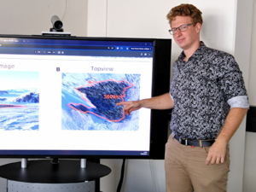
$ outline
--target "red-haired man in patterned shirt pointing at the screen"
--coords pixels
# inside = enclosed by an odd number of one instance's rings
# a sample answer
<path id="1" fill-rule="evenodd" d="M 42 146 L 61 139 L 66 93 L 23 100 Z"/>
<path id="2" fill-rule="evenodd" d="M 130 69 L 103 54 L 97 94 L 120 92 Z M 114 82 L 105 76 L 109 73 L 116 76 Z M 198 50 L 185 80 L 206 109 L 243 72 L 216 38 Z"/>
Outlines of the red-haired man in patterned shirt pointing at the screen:
<path id="1" fill-rule="evenodd" d="M 172 110 L 166 143 L 166 191 L 226 191 L 228 142 L 247 113 L 247 91 L 232 55 L 200 41 L 201 11 L 181 4 L 167 15 L 183 52 L 173 64 L 170 93 L 120 102 L 124 113 L 139 108 Z"/>

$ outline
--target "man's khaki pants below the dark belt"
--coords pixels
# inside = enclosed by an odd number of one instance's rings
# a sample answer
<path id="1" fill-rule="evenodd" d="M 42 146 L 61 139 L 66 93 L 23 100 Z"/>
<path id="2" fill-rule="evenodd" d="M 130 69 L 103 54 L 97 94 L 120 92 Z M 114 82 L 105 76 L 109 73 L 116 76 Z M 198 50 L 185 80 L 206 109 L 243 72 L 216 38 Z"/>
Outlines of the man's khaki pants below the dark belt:
<path id="1" fill-rule="evenodd" d="M 206 165 L 209 148 L 185 146 L 171 135 L 166 143 L 166 192 L 224 192 L 230 172 L 227 147 L 224 164 Z"/>

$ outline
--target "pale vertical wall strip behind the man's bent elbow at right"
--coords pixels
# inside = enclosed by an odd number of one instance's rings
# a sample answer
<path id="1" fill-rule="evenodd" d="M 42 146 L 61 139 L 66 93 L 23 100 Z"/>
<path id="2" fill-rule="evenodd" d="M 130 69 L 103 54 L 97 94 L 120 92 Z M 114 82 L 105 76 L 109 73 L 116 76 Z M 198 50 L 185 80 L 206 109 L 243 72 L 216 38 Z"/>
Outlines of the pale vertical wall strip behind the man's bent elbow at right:
<path id="1" fill-rule="evenodd" d="M 241 71 L 245 85 L 248 90 L 249 79 L 249 66 L 250 66 L 250 53 L 251 53 L 251 34 L 252 34 L 252 20 L 253 20 L 253 0 L 237 0 L 236 4 L 236 37 L 235 37 L 235 50 L 234 56 L 236 61 L 240 64 Z M 246 30 L 245 30 L 246 29 Z M 232 154 L 231 165 L 236 167 L 236 172 L 230 174 L 230 178 L 234 181 L 243 181 L 244 170 L 244 152 L 245 152 L 245 139 L 246 139 L 246 119 L 241 123 L 240 129 L 236 131 L 234 137 L 230 141 L 230 154 Z M 237 143 L 239 141 L 239 143 Z M 242 145 L 240 144 L 242 143 Z M 234 159 L 236 161 L 234 161 Z M 231 170 L 232 172 L 232 170 Z M 243 184 L 243 183 L 242 183 Z M 244 186 L 244 184 L 243 184 Z M 234 185 L 229 183 L 228 189 L 230 191 L 240 190 L 243 186 L 241 184 Z"/>

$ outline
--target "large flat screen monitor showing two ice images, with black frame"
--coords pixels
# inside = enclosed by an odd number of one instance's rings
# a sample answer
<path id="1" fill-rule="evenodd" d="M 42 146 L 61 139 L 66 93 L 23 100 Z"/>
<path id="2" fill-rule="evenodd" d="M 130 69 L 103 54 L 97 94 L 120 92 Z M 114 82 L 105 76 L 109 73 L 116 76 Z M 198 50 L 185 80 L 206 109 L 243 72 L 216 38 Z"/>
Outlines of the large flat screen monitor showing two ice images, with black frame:
<path id="1" fill-rule="evenodd" d="M 0 35 L 0 157 L 163 159 L 171 40 Z"/>

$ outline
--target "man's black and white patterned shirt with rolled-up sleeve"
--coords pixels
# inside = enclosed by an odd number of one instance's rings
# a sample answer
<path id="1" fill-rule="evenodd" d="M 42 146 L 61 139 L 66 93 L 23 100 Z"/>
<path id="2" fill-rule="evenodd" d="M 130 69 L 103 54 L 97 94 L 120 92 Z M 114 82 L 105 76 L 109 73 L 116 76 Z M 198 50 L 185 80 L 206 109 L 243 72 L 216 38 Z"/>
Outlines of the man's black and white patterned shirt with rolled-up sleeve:
<path id="1" fill-rule="evenodd" d="M 215 139 L 230 105 L 247 102 L 241 71 L 232 55 L 203 42 L 189 61 L 185 56 L 182 52 L 173 64 L 172 132 L 188 139 Z"/>

